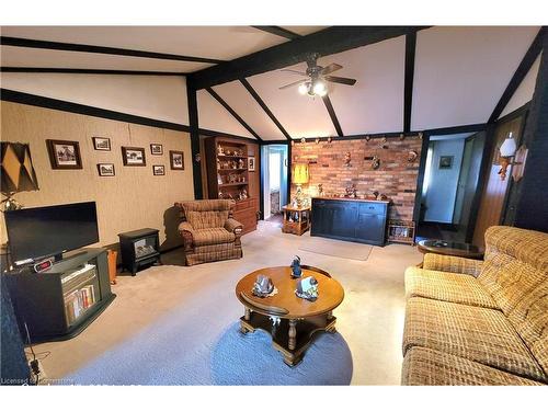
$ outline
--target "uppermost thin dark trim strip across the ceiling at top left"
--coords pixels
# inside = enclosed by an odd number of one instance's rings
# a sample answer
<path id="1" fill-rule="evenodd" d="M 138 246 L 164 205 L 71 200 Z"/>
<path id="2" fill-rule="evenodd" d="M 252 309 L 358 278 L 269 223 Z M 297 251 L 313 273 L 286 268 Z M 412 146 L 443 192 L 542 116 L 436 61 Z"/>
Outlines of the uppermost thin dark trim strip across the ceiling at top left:
<path id="1" fill-rule="evenodd" d="M 2 44 L 3 46 L 14 46 L 14 47 L 46 48 L 50 50 L 64 50 L 64 52 L 96 53 L 96 54 L 109 54 L 113 56 L 155 58 L 159 60 L 207 62 L 212 65 L 225 62 L 225 60 L 219 60 L 216 58 L 207 58 L 207 57 L 182 56 L 168 53 L 134 50 L 129 48 L 93 46 L 89 44 L 47 42 L 42 39 L 9 37 L 9 36 L 1 36 L 0 44 Z"/>

